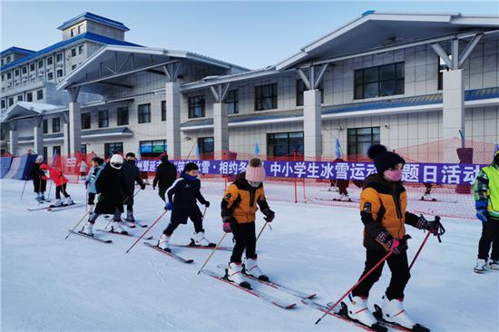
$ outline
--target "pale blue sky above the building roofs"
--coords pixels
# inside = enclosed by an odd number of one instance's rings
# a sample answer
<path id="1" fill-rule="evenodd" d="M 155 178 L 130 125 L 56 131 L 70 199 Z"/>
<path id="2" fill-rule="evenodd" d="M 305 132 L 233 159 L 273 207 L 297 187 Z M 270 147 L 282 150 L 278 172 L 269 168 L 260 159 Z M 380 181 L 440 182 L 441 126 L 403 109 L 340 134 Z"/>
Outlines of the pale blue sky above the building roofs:
<path id="1" fill-rule="evenodd" d="M 20 2 L 2 1 L 2 50 L 39 50 L 61 40 L 57 26 L 85 11 L 126 24 L 128 41 L 265 67 L 367 10 L 499 15 L 496 1 Z"/>

